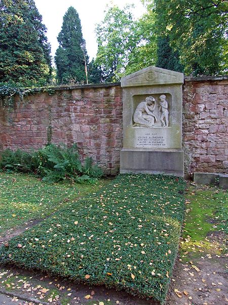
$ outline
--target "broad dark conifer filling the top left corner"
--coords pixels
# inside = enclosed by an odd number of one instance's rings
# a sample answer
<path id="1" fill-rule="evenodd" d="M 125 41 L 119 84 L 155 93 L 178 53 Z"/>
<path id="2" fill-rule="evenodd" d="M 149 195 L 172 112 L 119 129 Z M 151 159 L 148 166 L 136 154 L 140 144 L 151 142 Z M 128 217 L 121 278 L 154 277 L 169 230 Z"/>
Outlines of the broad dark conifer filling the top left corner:
<path id="1" fill-rule="evenodd" d="M 0 1 L 0 82 L 45 84 L 51 76 L 50 45 L 33 0 Z"/>

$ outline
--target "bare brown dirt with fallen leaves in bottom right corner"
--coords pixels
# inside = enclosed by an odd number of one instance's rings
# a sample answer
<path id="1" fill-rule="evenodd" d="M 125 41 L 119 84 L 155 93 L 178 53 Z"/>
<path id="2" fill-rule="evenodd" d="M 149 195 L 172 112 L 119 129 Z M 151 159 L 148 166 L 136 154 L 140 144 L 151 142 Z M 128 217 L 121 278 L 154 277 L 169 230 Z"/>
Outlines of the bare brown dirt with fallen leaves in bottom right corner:
<path id="1" fill-rule="evenodd" d="M 166 305 L 228 304 L 227 255 L 200 257 L 174 267 Z"/>

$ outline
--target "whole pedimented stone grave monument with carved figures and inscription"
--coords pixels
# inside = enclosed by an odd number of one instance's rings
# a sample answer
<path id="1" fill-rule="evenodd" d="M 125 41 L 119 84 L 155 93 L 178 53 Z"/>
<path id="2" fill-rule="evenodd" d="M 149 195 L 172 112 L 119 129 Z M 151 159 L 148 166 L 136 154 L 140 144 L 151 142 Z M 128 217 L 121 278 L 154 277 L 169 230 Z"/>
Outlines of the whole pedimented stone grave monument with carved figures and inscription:
<path id="1" fill-rule="evenodd" d="M 121 173 L 183 176 L 182 84 L 182 73 L 157 67 L 121 79 Z"/>

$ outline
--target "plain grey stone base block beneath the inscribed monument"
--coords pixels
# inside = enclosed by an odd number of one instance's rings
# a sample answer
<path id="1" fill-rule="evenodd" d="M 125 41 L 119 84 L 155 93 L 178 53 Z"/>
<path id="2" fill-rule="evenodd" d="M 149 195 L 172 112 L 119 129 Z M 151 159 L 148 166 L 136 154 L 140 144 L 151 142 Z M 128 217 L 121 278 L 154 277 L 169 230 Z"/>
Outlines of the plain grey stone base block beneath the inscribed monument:
<path id="1" fill-rule="evenodd" d="M 150 150 L 123 148 L 120 173 L 167 174 L 183 177 L 184 153 L 181 149 Z"/>

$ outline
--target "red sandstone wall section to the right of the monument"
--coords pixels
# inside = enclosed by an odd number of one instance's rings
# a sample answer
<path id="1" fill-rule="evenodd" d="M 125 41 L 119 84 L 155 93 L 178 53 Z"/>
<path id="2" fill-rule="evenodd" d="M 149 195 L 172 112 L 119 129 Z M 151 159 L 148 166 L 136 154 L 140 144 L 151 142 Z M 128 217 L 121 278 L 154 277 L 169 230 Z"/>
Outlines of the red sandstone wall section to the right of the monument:
<path id="1" fill-rule="evenodd" d="M 183 148 L 185 171 L 227 172 L 228 79 L 185 81 Z"/>

